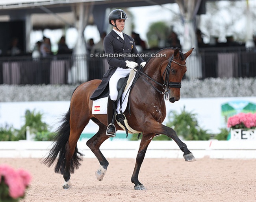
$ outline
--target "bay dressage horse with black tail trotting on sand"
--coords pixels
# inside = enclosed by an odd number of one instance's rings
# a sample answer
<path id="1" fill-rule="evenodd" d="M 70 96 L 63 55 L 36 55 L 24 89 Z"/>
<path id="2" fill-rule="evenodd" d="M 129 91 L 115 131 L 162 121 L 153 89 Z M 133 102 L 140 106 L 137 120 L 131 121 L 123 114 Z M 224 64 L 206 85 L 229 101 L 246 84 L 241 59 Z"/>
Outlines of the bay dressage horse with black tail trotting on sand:
<path id="1" fill-rule="evenodd" d="M 161 57 L 150 57 L 145 67 L 137 70 L 140 76 L 130 90 L 130 111 L 128 112 L 128 109 L 124 111 L 129 126 L 142 132 L 131 178 L 135 190 L 145 189 L 144 185 L 139 182 L 138 175 L 147 147 L 155 135 L 163 134 L 172 138 L 184 152 L 186 162 L 196 160 L 187 149 L 187 145 L 178 138 L 176 132 L 162 124 L 166 116 L 164 99 L 169 99 L 171 103 L 180 99 L 182 77 L 187 71 L 186 59 L 193 49 L 186 53 L 182 53 L 179 48 L 161 49 L 155 54 Z M 55 172 L 63 174 L 64 189 L 70 187 L 70 173 L 74 173 L 74 170 L 81 165 L 80 161 L 83 157 L 78 151 L 77 141 L 90 119 L 99 126 L 98 132 L 86 143 L 100 163 L 95 175 L 101 181 L 106 174 L 109 163 L 99 148 L 109 138 L 106 135 L 107 115 L 92 114 L 93 101 L 90 99 L 100 82 L 101 80 L 87 81 L 74 90 L 69 110 L 57 130 L 53 147 L 48 156 L 43 159 L 43 163 L 48 167 L 57 161 Z M 115 127 L 117 130 L 123 130 L 116 122 Z"/>

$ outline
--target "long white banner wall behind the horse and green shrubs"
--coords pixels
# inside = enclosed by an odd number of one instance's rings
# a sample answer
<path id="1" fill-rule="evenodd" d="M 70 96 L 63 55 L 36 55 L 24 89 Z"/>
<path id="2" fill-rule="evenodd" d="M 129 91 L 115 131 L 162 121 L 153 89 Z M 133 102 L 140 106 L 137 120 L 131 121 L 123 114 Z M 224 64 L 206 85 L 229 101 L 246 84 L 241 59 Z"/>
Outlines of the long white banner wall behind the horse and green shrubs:
<path id="1" fill-rule="evenodd" d="M 217 134 L 221 128 L 226 127 L 229 114 L 243 112 L 247 106 L 254 108 L 255 101 L 256 97 L 181 98 L 175 103 L 166 101 L 167 117 L 163 123 L 166 124 L 168 121 L 171 110 L 175 110 L 179 114 L 185 107 L 186 112 L 196 114 L 198 124 L 202 129 Z M 35 110 L 35 112 L 43 114 L 42 120 L 54 130 L 59 126 L 58 122 L 61 120 L 61 116 L 69 110 L 69 104 L 70 101 L 0 103 L 0 125 L 3 126 L 7 123 L 20 129 L 25 123 L 26 110 Z M 231 108 L 230 112 L 224 111 L 223 108 L 226 106 Z M 96 133 L 97 131 L 98 126 L 90 121 L 83 133 Z"/>

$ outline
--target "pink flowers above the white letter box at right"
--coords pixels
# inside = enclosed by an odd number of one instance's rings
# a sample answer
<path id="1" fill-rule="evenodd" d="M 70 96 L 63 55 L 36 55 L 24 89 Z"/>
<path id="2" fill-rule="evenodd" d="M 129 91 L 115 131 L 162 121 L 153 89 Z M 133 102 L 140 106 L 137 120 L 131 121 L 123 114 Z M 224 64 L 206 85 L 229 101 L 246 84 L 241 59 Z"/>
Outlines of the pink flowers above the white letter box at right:
<path id="1" fill-rule="evenodd" d="M 228 127 L 232 129 L 255 129 L 256 114 L 239 113 L 228 118 Z"/>

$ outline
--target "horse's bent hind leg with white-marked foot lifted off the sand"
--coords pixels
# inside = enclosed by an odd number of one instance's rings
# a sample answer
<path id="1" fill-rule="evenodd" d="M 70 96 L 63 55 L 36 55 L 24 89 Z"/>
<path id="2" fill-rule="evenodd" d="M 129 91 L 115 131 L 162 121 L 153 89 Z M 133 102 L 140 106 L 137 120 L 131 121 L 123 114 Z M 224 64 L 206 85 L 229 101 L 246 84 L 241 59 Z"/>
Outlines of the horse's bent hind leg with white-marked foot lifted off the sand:
<path id="1" fill-rule="evenodd" d="M 92 120 L 99 126 L 99 130 L 90 140 L 87 141 L 86 144 L 100 162 L 100 167 L 96 171 L 95 176 L 97 180 L 101 181 L 106 174 L 108 168 L 108 160 L 106 160 L 106 158 L 100 151 L 100 145 L 109 137 L 106 136 L 107 127 L 95 118 L 93 118 Z"/>

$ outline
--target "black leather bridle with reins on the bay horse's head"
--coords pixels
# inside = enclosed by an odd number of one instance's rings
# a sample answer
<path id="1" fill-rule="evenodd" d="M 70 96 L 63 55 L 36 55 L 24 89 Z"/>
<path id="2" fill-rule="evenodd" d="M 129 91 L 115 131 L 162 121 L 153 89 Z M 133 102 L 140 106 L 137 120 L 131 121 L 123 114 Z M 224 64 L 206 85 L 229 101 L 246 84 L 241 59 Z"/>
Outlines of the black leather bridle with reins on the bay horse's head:
<path id="1" fill-rule="evenodd" d="M 141 72 L 141 70 L 138 70 L 137 68 L 135 68 L 137 70 L 137 72 L 139 72 L 140 74 L 145 75 L 148 79 L 150 79 L 151 81 L 154 81 L 156 84 L 160 85 L 163 87 L 164 91 L 160 91 L 158 90 L 155 86 L 153 86 L 151 83 L 149 83 L 145 78 L 141 77 L 142 79 L 144 79 L 144 81 L 146 81 L 148 84 L 150 84 L 150 86 L 152 86 L 157 92 L 159 92 L 161 95 L 168 93 L 169 88 L 181 88 L 181 82 L 172 82 L 169 81 L 169 76 L 170 76 L 170 71 L 171 71 L 171 63 L 174 62 L 175 64 L 178 64 L 180 66 L 186 66 L 186 62 L 185 64 L 180 64 L 176 61 L 173 60 L 174 55 L 172 55 L 172 57 L 169 59 L 169 62 L 165 68 L 165 71 L 163 72 L 163 75 L 165 74 L 165 80 L 164 83 L 158 83 L 157 81 L 155 81 L 154 79 L 152 79 L 151 77 L 149 77 L 147 74 Z M 162 75 L 162 78 L 163 78 Z M 168 97 L 167 95 L 165 96 L 166 98 Z M 168 99 L 167 99 L 168 100 Z"/>

